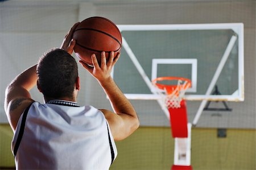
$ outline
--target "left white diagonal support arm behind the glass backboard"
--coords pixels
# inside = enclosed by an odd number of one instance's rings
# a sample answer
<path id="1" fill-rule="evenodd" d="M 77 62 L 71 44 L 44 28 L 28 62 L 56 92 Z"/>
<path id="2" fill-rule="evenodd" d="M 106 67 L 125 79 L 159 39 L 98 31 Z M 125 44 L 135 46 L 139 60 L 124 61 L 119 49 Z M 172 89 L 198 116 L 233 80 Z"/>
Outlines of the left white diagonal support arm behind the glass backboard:
<path id="1" fill-rule="evenodd" d="M 150 90 L 153 89 L 154 86 L 152 85 L 150 79 L 147 77 L 147 74 L 144 72 L 143 68 L 141 67 L 141 64 L 139 64 L 137 57 L 134 55 L 133 51 L 131 51 L 131 48 L 129 47 L 125 38 L 123 38 L 123 37 L 122 37 L 122 46 L 123 46 L 123 48 L 125 48 L 125 51 L 129 55 L 131 61 L 133 61 L 133 64 L 137 68 L 139 74 L 141 74 L 141 77 L 143 78 L 144 82 L 146 82 L 146 85 L 148 86 L 148 88 Z M 152 92 L 152 90 L 151 90 L 151 92 Z M 152 93 L 156 94 L 155 92 L 152 92 Z M 166 106 L 164 105 L 162 99 L 157 99 L 156 101 L 159 103 L 161 109 L 164 111 L 164 114 L 166 114 L 166 117 L 168 119 L 170 119 L 169 111 L 167 110 Z"/>

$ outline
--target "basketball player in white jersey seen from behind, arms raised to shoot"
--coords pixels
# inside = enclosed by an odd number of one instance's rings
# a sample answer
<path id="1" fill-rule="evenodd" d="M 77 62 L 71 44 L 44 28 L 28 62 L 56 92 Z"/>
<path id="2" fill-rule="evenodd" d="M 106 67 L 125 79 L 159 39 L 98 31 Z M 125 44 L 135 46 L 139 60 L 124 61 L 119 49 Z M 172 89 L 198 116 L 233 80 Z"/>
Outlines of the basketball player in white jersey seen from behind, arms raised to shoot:
<path id="1" fill-rule="evenodd" d="M 38 64 L 20 73 L 7 87 L 5 111 L 14 138 L 11 149 L 17 169 L 109 169 L 117 156 L 114 140 L 122 140 L 139 126 L 134 107 L 115 85 L 110 72 L 117 62 L 113 52 L 94 67 L 80 61 L 108 95 L 114 112 L 76 102 L 80 81 L 71 56 L 76 23 L 60 49 L 43 55 Z M 34 101 L 30 90 L 43 93 L 45 104 Z"/>

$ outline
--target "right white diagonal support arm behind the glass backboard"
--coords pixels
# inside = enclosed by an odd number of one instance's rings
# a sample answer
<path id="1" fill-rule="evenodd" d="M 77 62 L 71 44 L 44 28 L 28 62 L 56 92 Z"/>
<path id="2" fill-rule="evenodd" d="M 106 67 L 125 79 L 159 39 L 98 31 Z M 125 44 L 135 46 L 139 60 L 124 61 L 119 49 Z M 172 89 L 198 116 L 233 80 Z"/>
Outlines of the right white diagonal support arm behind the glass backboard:
<path id="1" fill-rule="evenodd" d="M 214 85 L 216 84 L 218 77 L 220 76 L 220 73 L 221 73 L 222 69 L 224 68 L 226 60 L 228 60 L 229 54 L 232 51 L 234 44 L 236 43 L 236 40 L 237 40 L 237 35 L 233 35 L 229 41 L 228 46 L 226 47 L 226 50 L 224 52 L 224 55 L 222 56 L 220 64 L 218 64 L 218 68 L 216 69 L 216 72 L 214 73 L 214 76 L 212 78 L 212 81 L 210 82 L 207 92 L 205 93 L 206 96 L 209 96 L 210 93 L 212 92 Z M 201 114 L 203 113 L 203 110 L 204 110 L 204 107 L 206 104 L 207 104 L 207 99 L 204 99 L 201 102 L 199 109 L 197 110 L 195 118 L 193 119 L 193 123 L 192 123 L 193 126 L 196 126 L 197 122 L 199 121 L 199 118 L 200 118 Z"/>

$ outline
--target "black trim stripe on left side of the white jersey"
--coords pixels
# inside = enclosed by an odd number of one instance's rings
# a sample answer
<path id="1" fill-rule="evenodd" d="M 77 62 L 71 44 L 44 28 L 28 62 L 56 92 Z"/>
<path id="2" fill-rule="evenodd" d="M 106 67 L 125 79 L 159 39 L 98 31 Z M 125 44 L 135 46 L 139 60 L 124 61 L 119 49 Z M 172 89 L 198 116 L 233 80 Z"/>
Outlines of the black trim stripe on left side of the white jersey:
<path id="1" fill-rule="evenodd" d="M 34 102 L 32 102 L 32 103 L 34 103 Z M 14 146 L 14 151 L 13 151 L 14 156 L 16 156 L 18 148 L 19 148 L 19 144 L 22 140 L 22 136 L 23 136 L 24 128 L 25 128 L 25 123 L 26 123 L 26 119 L 27 119 L 27 113 L 28 113 L 28 110 L 30 110 L 30 106 L 32 105 L 32 103 L 27 107 L 26 110 L 24 110 L 24 113 L 23 113 L 23 116 L 22 116 L 22 122 L 21 122 L 21 125 L 20 125 L 20 128 L 19 128 L 19 135 L 18 135 L 18 138 L 17 138 L 15 146 Z"/>

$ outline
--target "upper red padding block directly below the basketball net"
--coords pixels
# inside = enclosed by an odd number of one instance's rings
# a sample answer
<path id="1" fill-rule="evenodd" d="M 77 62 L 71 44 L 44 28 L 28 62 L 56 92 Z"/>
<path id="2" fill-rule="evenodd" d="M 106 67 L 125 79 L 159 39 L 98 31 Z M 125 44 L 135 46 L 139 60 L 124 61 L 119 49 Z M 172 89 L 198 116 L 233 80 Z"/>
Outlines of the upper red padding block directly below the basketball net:
<path id="1" fill-rule="evenodd" d="M 180 108 L 168 109 L 170 113 L 170 123 L 173 138 L 187 138 L 188 137 L 188 118 L 186 102 L 180 102 Z"/>

